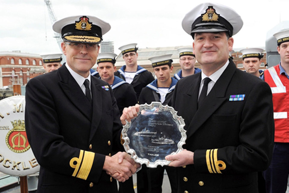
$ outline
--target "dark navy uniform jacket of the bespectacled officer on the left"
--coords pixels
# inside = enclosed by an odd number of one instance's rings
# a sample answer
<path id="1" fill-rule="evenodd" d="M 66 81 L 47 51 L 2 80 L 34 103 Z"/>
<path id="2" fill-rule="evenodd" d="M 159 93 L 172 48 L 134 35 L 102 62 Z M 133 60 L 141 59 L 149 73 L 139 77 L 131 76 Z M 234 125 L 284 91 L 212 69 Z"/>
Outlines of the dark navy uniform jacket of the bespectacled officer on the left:
<path id="1" fill-rule="evenodd" d="M 62 65 L 26 86 L 25 128 L 40 164 L 37 192 L 117 192 L 102 169 L 123 151 L 122 125 L 110 86 L 91 76 L 92 104 Z"/>

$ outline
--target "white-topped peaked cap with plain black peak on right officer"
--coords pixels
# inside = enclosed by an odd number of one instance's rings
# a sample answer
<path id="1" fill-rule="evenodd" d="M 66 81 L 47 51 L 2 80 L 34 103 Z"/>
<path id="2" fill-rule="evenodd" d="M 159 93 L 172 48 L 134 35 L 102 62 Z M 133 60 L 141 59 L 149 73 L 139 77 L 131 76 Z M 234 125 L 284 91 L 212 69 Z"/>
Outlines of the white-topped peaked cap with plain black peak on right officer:
<path id="1" fill-rule="evenodd" d="M 243 21 L 232 8 L 216 3 L 202 3 L 188 12 L 182 27 L 194 38 L 194 33 L 227 32 L 233 36 L 241 30 Z"/>

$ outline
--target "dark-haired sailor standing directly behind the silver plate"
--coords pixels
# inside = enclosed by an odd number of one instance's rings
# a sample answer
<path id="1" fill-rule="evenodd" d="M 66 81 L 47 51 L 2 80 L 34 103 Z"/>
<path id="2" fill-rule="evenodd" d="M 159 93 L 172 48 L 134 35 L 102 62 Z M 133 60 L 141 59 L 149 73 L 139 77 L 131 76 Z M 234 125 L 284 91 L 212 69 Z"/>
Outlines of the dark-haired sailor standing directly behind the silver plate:
<path id="1" fill-rule="evenodd" d="M 157 101 L 163 105 L 172 105 L 171 99 L 177 80 L 171 78 L 173 69 L 171 56 L 172 54 L 167 54 L 149 58 L 157 79 L 141 90 L 139 104 L 151 104 L 151 102 Z M 148 172 L 149 175 L 147 184 L 145 184 L 146 180 L 143 179 L 144 187 L 147 189 L 142 192 L 162 192 L 165 169 L 169 177 L 172 192 L 177 192 L 176 169 L 169 166 L 158 166 L 157 168 L 146 168 L 143 166 L 141 172 Z M 139 172 L 137 174 L 138 179 L 146 177 L 145 175 L 139 175 Z"/>

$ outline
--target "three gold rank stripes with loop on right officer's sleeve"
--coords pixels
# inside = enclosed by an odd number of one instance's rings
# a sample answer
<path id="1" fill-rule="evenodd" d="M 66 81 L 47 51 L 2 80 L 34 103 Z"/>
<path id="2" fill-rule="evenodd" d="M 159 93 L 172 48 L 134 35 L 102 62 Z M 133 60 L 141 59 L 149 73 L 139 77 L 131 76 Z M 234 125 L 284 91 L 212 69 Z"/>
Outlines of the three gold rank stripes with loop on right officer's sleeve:
<path id="1" fill-rule="evenodd" d="M 218 160 L 218 149 L 211 149 L 206 151 L 206 162 L 208 171 L 210 173 L 219 173 L 226 169 L 226 164 L 222 160 Z"/>

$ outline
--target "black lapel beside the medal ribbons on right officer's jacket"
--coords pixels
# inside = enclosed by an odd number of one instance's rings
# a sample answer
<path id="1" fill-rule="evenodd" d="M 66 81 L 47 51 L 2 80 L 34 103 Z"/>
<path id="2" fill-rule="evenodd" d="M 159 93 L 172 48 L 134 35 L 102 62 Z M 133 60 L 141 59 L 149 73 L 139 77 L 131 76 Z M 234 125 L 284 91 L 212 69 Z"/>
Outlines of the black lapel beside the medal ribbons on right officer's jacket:
<path id="1" fill-rule="evenodd" d="M 226 100 L 225 93 L 228 85 L 236 71 L 236 66 L 230 62 L 223 74 L 217 80 L 208 96 L 204 99 L 202 105 L 198 107 L 194 114 L 187 131 L 187 138 L 200 128 L 201 125 L 222 105 Z M 200 83 L 199 83 L 200 84 Z M 194 93 L 194 98 L 198 97 L 198 90 Z"/>

